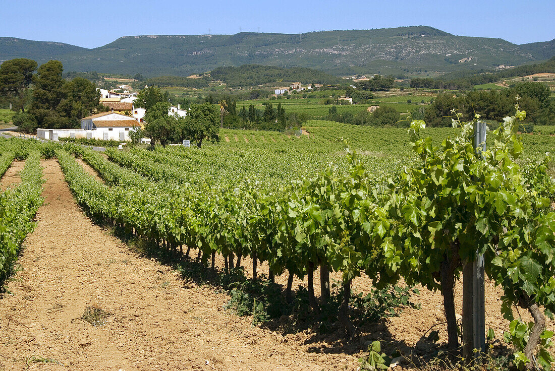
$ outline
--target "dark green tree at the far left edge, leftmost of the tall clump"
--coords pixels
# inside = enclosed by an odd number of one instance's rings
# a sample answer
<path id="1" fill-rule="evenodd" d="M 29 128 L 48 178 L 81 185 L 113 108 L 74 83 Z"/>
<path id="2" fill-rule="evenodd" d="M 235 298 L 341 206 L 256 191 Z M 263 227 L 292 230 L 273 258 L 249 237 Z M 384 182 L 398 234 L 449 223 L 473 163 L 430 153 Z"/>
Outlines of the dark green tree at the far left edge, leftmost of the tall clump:
<path id="1" fill-rule="evenodd" d="M 27 89 L 31 85 L 37 62 L 27 58 L 6 60 L 0 65 L 0 94 L 13 99 L 14 110 L 24 112 L 27 104 Z"/>

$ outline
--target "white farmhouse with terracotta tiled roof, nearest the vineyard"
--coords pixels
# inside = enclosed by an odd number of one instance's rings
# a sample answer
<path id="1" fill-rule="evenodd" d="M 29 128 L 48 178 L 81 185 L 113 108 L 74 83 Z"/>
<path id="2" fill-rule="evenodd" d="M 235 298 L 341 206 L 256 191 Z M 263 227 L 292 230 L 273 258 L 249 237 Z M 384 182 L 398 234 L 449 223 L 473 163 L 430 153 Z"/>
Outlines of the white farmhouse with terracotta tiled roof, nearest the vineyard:
<path id="1" fill-rule="evenodd" d="M 81 129 L 89 139 L 129 140 L 129 130 L 140 126 L 137 120 L 115 112 L 102 112 L 81 119 Z"/>

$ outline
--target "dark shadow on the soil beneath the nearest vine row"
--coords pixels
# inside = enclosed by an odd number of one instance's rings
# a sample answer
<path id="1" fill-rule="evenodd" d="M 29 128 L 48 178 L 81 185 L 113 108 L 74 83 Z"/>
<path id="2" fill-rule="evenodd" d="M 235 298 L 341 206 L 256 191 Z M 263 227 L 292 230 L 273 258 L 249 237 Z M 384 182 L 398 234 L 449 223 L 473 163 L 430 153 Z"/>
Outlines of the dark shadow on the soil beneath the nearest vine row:
<path id="1" fill-rule="evenodd" d="M 483 369 L 482 363 L 476 364 L 477 368 L 463 368 L 460 351 L 450 352 L 447 344 L 438 344 L 437 333 L 431 331 L 432 329 L 428 330 L 415 346 L 393 337 L 386 326 L 387 317 L 397 316 L 403 307 L 418 306 L 410 301 L 411 288 L 389 287 L 383 291 L 376 290 L 367 297 L 352 293 L 348 314 L 351 319 L 356 319 L 356 333 L 349 338 L 345 326 L 337 317 L 342 287 L 336 283 L 332 284 L 330 302 L 326 305 L 320 304 L 320 316 L 315 316 L 309 306 L 306 288 L 302 286 L 294 291 L 292 301 L 287 303 L 284 286 L 270 281 L 264 275 L 256 280 L 247 279 L 242 267 L 233 268 L 226 274 L 218 267 L 211 268 L 210 257 L 203 259 L 198 250 L 169 252 L 155 243 L 139 240 L 121 228 L 108 226 L 104 221 L 88 215 L 97 225 L 112 231 L 115 237 L 125 242 L 135 253 L 146 258 L 155 258 L 163 265 L 178 271 L 185 282 L 211 286 L 216 292 L 226 292 L 231 298 L 226 304 L 226 309 L 239 316 L 252 316 L 253 326 L 268 328 L 282 334 L 284 342 L 295 341 L 312 345 L 307 349 L 310 353 L 367 355 L 368 353 L 361 352 L 367 352 L 369 345 L 379 340 L 382 352 L 392 357 L 402 355 L 403 364 L 413 369 Z M 504 344 L 492 344 L 488 354 L 493 353 L 495 357 L 488 357 L 486 362 L 497 363 L 498 359 L 507 359 L 511 354 Z M 503 365 L 506 366 L 506 363 Z"/>

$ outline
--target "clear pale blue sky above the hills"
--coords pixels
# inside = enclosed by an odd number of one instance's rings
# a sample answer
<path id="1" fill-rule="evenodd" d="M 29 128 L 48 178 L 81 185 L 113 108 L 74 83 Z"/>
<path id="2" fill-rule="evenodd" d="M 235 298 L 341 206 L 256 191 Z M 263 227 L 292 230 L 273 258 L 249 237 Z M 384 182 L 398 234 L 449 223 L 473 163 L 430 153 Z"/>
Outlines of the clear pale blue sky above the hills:
<path id="1" fill-rule="evenodd" d="M 125 35 L 302 33 L 418 25 L 517 44 L 555 38 L 553 0 L 2 0 L 0 9 L 0 36 L 87 48 Z"/>

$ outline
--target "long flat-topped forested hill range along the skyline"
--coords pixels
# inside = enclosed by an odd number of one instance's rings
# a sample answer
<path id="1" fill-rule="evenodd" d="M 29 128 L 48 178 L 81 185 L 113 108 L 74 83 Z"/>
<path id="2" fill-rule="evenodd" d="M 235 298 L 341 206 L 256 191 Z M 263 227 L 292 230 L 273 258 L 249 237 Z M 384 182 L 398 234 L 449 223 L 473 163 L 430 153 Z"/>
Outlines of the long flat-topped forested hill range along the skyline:
<path id="1" fill-rule="evenodd" d="M 187 76 L 218 67 L 262 64 L 313 68 L 334 75 L 495 70 L 555 55 L 555 40 L 516 45 L 455 36 L 427 26 L 304 34 L 126 36 L 86 49 L 54 42 L 0 38 L 0 60 L 58 59 L 66 71 Z"/>

